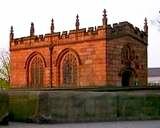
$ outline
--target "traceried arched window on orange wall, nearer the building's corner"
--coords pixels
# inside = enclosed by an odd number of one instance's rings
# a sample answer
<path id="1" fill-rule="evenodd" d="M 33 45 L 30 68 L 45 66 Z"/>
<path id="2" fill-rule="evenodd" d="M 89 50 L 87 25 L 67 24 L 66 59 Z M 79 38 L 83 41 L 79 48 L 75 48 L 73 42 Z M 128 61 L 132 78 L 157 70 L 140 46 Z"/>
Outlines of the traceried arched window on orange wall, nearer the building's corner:
<path id="1" fill-rule="evenodd" d="M 62 85 L 65 87 L 77 85 L 77 59 L 72 53 L 67 53 L 62 60 Z"/>

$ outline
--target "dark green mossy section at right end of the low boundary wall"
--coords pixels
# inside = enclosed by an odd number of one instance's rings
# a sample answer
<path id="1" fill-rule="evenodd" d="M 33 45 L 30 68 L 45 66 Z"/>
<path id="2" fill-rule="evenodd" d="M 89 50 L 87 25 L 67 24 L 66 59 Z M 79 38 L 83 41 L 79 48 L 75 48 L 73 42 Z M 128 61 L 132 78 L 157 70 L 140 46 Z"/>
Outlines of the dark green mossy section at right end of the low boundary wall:
<path id="1" fill-rule="evenodd" d="M 119 119 L 160 119 L 160 95 L 123 93 L 119 95 Z"/>

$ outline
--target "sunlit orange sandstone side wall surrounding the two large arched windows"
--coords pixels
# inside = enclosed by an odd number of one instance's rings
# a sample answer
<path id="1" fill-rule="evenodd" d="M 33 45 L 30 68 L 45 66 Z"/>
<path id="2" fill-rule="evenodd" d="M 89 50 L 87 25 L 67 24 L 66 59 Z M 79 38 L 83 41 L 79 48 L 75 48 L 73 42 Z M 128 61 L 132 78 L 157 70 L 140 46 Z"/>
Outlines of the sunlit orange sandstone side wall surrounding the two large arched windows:
<path id="1" fill-rule="evenodd" d="M 77 86 L 105 85 L 106 29 L 100 26 L 94 31 L 72 31 L 66 37 L 63 37 L 63 34 L 62 37 L 55 36 L 54 33 L 45 35 L 43 39 L 34 36 L 12 40 L 10 48 L 12 88 L 29 87 L 30 65 L 36 56 L 44 62 L 43 88 L 51 87 L 51 81 L 52 87 L 62 87 L 62 60 L 67 53 L 73 54 L 77 59 Z"/>

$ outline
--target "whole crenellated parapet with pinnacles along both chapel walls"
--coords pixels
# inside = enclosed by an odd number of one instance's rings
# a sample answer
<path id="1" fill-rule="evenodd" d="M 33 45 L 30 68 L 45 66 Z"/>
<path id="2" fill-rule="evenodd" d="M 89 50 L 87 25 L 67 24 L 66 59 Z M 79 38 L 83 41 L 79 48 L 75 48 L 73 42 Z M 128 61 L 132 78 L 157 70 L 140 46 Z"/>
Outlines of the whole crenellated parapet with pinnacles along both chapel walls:
<path id="1" fill-rule="evenodd" d="M 148 25 L 145 19 L 144 31 L 134 27 L 128 22 L 115 23 L 112 26 L 107 24 L 106 10 L 103 11 L 102 24 L 96 27 L 80 28 L 79 16 L 76 16 L 75 29 L 63 32 L 55 32 L 54 20 L 51 20 L 50 33 L 36 35 L 34 23 L 31 23 L 30 35 L 27 37 L 14 38 L 13 27 L 10 31 L 10 50 L 28 49 L 34 47 L 48 47 L 52 45 L 63 45 L 72 43 L 83 43 L 85 41 L 96 41 L 103 39 L 114 39 L 130 35 L 133 38 L 147 44 Z"/>

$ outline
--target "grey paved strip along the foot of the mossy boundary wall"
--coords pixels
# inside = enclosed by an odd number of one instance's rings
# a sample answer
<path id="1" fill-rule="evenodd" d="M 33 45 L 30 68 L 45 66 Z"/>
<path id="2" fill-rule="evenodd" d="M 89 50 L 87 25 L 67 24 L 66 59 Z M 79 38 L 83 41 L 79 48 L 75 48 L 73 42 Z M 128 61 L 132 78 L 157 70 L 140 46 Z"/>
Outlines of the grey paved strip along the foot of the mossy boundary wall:
<path id="1" fill-rule="evenodd" d="M 10 123 L 0 128 L 160 128 L 158 121 L 115 121 L 97 123 L 68 123 L 68 124 L 27 124 Z"/>

